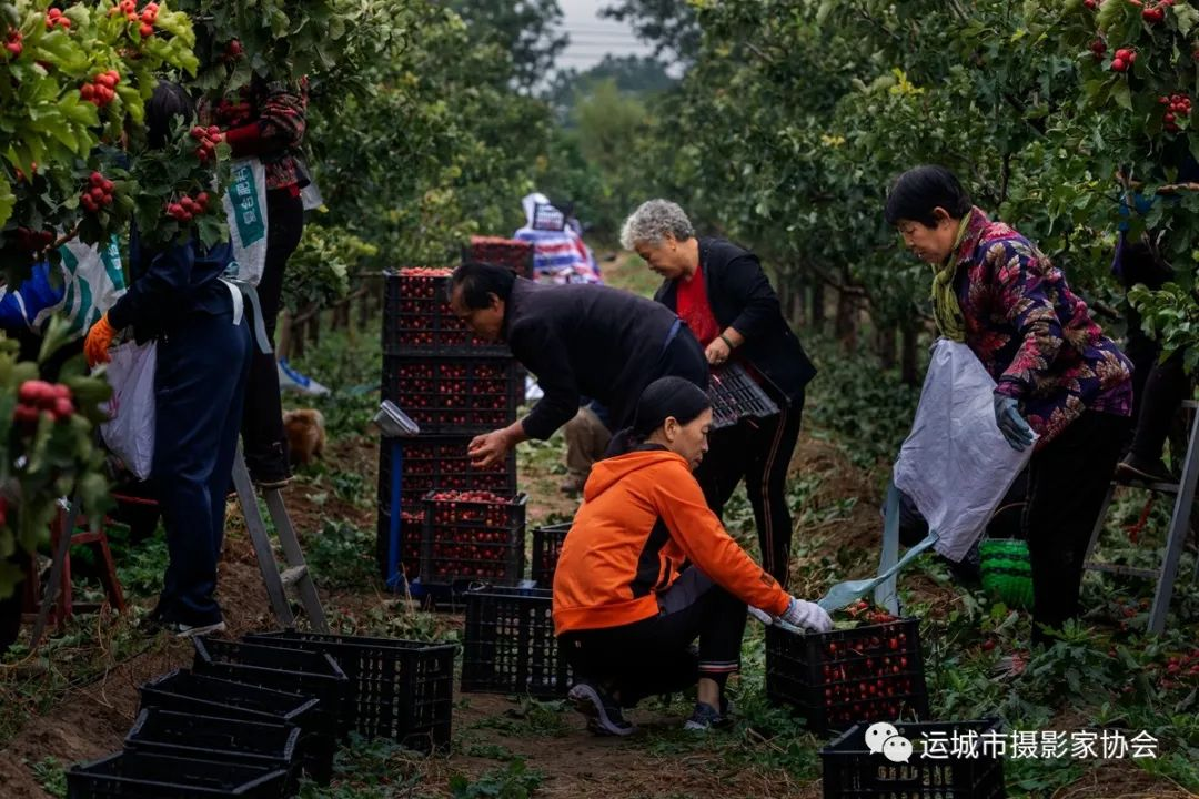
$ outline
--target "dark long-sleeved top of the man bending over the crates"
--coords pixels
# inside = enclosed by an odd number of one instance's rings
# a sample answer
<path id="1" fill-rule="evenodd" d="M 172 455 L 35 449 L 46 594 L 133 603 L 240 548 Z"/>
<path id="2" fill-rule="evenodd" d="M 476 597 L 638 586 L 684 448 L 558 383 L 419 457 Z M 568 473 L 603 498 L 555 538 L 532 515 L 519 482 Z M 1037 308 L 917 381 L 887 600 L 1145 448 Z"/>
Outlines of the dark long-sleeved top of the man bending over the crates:
<path id="1" fill-rule="evenodd" d="M 627 291 L 517 278 L 502 335 L 546 394 L 525 417 L 525 434 L 549 438 L 574 418 L 582 395 L 608 408 L 614 430 L 628 424 L 676 319 Z M 677 334 L 691 335 L 686 327 Z"/>

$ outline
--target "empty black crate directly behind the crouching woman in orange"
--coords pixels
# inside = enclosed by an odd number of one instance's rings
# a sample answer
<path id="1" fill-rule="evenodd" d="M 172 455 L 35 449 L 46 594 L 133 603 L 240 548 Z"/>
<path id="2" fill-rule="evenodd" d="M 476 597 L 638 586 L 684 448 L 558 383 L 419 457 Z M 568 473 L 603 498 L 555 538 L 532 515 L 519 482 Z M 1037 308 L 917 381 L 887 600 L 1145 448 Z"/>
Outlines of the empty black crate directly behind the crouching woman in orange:
<path id="1" fill-rule="evenodd" d="M 493 587 L 464 599 L 463 692 L 566 695 L 571 670 L 554 637 L 552 592 Z"/>

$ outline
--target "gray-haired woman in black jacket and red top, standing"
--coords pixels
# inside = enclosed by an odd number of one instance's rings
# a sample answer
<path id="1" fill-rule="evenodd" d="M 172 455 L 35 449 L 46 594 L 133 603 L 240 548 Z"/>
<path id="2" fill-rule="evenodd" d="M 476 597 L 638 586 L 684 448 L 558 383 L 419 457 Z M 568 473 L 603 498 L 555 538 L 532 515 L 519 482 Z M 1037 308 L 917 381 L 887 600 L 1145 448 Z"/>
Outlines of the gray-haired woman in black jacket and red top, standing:
<path id="1" fill-rule="evenodd" d="M 626 249 L 664 278 L 655 299 L 679 314 L 707 362 L 740 362 L 779 402 L 782 413 L 746 422 L 711 437 L 711 455 L 695 477 L 717 514 L 743 477 L 753 506 L 763 565 L 787 586 L 791 514 L 784 489 L 800 436 L 803 387 L 815 367 L 783 319 L 778 297 L 753 253 L 723 238 L 699 238 L 669 200 L 650 200 L 625 220 Z"/>

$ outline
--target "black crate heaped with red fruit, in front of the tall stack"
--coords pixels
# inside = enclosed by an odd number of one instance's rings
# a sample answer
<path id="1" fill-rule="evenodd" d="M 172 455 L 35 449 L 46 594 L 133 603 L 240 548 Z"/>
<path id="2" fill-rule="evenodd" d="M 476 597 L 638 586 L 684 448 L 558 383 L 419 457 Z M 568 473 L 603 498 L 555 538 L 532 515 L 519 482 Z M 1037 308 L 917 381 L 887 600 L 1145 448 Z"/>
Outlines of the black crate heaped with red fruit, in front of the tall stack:
<path id="1" fill-rule="evenodd" d="M 439 491 L 429 497 L 433 580 L 504 580 L 523 526 L 520 506 L 490 491 Z"/>

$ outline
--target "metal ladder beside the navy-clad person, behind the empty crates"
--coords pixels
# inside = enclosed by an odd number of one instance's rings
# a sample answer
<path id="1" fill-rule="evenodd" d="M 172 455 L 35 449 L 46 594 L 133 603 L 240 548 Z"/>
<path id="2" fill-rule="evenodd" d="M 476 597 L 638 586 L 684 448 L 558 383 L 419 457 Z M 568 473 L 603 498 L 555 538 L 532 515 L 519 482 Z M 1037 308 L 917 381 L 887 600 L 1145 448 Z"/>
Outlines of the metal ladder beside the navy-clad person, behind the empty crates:
<path id="1" fill-rule="evenodd" d="M 271 537 L 266 532 L 263 514 L 258 509 L 258 497 L 254 495 L 254 486 L 249 480 L 249 471 L 246 468 L 246 459 L 242 456 L 240 443 L 233 461 L 233 484 L 237 489 L 241 514 L 246 519 L 246 529 L 249 532 L 249 540 L 254 544 L 258 568 L 263 573 L 266 594 L 270 597 L 271 609 L 275 611 L 275 618 L 278 619 L 279 627 L 289 630 L 296 627 L 295 615 L 291 612 L 287 594 L 288 587 L 294 586 L 300 595 L 305 615 L 308 617 L 308 625 L 315 632 L 329 632 L 329 623 L 325 621 L 325 610 L 321 607 L 317 585 L 313 582 L 312 575 L 308 574 L 308 564 L 305 562 L 300 539 L 291 525 L 287 506 L 283 504 L 283 492 L 279 489 L 263 490 L 263 498 L 266 500 L 266 508 L 279 537 L 279 549 L 287 562 L 287 568 L 281 571 L 275 559 L 275 550 L 271 547 Z"/>

